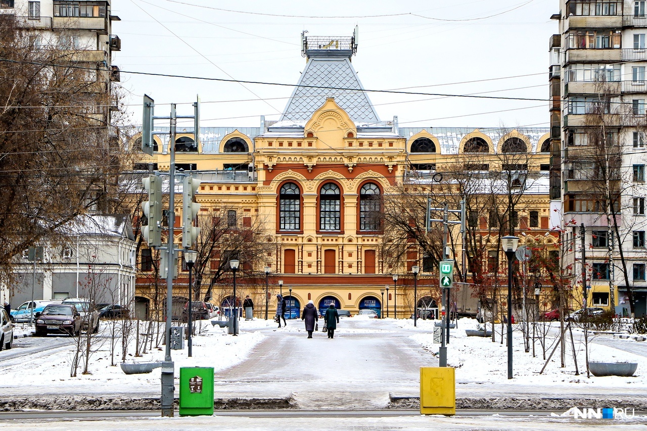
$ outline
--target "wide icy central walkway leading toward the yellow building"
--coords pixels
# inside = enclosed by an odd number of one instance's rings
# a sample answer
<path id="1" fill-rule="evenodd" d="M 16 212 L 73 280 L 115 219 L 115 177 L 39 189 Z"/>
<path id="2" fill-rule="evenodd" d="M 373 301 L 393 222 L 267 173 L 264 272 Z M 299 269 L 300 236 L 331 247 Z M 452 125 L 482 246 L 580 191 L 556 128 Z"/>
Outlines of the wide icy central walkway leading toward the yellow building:
<path id="1" fill-rule="evenodd" d="M 309 339 L 305 332 L 268 330 L 250 359 L 217 373 L 215 396 L 292 394 L 305 409 L 383 408 L 389 393 L 419 387 L 421 366 L 438 366 L 410 333 L 398 329 L 386 322 L 342 319 L 334 339 L 321 332 Z"/>

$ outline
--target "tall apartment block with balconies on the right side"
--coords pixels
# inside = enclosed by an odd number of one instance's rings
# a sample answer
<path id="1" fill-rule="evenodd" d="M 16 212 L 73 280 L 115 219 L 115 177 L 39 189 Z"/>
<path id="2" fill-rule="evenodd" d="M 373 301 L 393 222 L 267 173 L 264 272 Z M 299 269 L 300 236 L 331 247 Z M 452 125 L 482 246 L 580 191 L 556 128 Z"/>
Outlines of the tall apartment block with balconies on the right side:
<path id="1" fill-rule="evenodd" d="M 647 312 L 645 3 L 561 0 L 549 78 L 563 270 L 581 287 L 586 252 L 588 305 L 627 315 L 633 301 L 637 316 Z"/>

